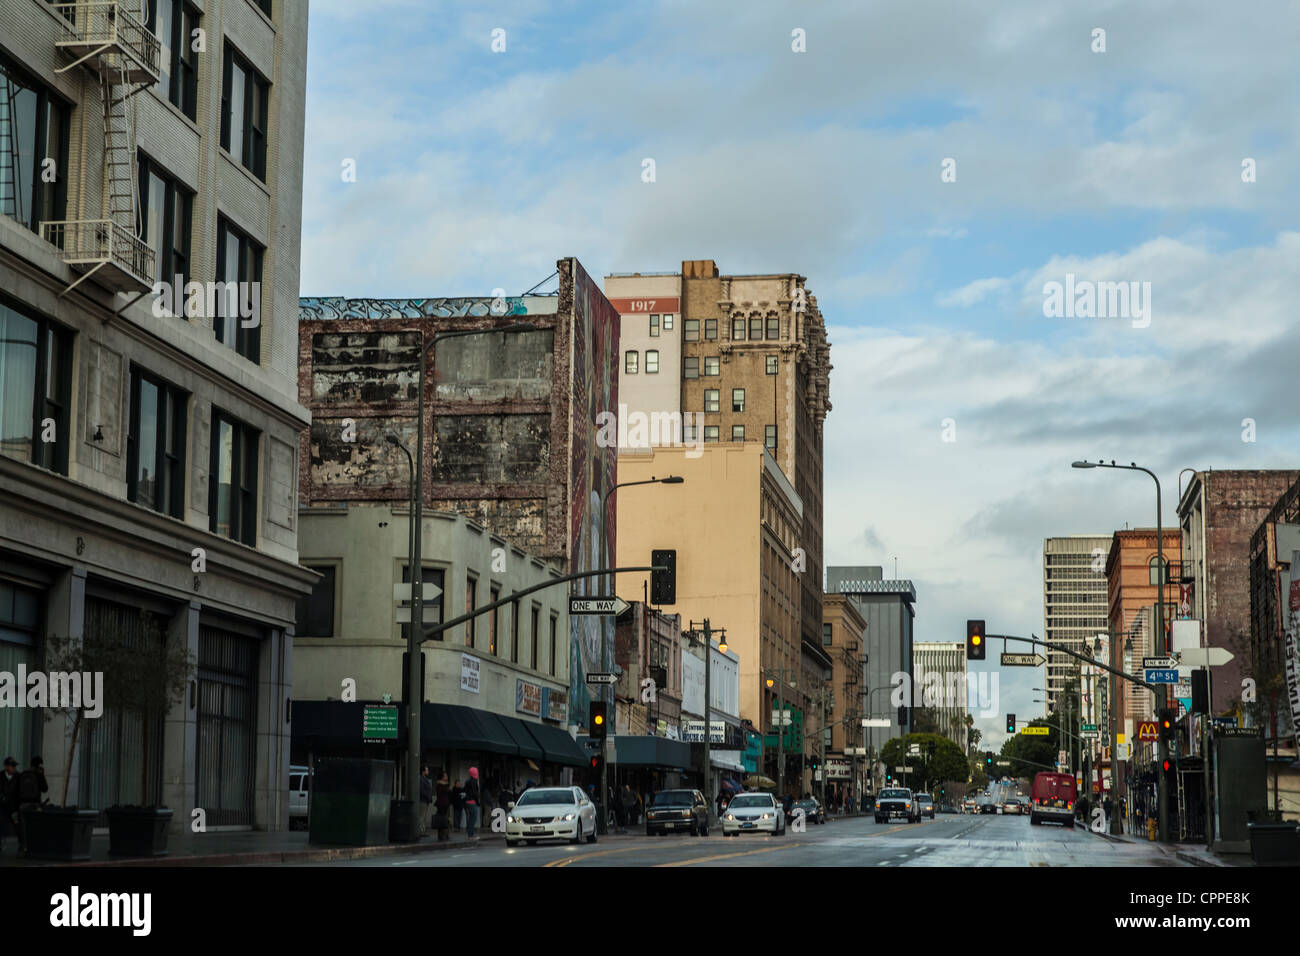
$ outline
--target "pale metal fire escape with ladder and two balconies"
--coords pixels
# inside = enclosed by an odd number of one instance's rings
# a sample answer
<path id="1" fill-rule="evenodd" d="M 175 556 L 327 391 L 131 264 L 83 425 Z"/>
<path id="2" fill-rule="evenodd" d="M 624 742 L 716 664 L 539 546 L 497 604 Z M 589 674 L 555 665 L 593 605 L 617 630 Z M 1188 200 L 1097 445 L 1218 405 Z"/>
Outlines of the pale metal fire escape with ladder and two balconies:
<path id="1" fill-rule="evenodd" d="M 159 39 L 118 0 L 53 4 L 62 17 L 55 46 L 99 78 L 104 117 L 104 181 L 100 219 L 42 222 L 42 237 L 64 252 L 82 277 L 113 291 L 143 295 L 153 285 L 153 250 L 140 238 L 135 113 L 129 100 L 159 79 Z"/>

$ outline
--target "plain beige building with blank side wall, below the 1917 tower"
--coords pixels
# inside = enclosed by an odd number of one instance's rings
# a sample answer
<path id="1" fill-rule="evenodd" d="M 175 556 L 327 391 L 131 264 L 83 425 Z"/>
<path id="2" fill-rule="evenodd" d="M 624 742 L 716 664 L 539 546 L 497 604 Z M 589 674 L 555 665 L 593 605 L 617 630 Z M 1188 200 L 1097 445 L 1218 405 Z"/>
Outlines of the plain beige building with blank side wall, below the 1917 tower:
<path id="1" fill-rule="evenodd" d="M 685 481 L 620 493 L 621 561 L 649 563 L 651 550 L 676 549 L 677 602 L 660 610 L 680 614 L 682 620 L 710 618 L 714 627 L 727 628 L 727 643 L 740 658 L 742 719 L 755 728 L 770 727 L 777 691 L 788 708 L 807 713 L 810 693 L 820 688 L 801 685 L 802 589 L 794 549 L 803 523 L 802 499 L 757 442 L 720 442 L 702 453 L 659 447 L 619 455 L 623 483 L 664 475 Z M 647 584 L 649 575 L 623 574 L 618 593 L 637 601 Z M 785 682 L 768 689 L 764 675 L 777 672 L 784 672 Z M 775 753 L 767 757 L 775 773 Z M 798 774 L 789 762 L 786 770 L 793 788 Z"/>

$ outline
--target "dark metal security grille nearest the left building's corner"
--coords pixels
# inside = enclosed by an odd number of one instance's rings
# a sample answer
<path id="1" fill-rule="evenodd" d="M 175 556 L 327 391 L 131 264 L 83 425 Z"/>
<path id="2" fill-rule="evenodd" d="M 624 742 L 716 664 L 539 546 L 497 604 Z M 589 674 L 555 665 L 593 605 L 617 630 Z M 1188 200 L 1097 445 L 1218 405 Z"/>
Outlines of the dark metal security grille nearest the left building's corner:
<path id="1" fill-rule="evenodd" d="M 259 641 L 199 627 L 198 806 L 209 826 L 251 825 Z"/>

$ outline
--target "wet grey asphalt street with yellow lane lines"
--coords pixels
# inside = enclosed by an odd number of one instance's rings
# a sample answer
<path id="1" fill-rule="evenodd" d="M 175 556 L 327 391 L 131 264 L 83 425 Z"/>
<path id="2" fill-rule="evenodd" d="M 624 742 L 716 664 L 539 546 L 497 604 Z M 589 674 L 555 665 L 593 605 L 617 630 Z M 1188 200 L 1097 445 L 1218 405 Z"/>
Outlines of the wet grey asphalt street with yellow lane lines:
<path id="1" fill-rule="evenodd" d="M 311 865 L 311 864 L 304 864 Z M 837 819 L 785 836 L 608 836 L 595 845 L 542 844 L 385 856 L 332 866 L 1186 866 L 1156 844 L 1113 843 L 1026 817 L 940 816 L 920 823 Z"/>

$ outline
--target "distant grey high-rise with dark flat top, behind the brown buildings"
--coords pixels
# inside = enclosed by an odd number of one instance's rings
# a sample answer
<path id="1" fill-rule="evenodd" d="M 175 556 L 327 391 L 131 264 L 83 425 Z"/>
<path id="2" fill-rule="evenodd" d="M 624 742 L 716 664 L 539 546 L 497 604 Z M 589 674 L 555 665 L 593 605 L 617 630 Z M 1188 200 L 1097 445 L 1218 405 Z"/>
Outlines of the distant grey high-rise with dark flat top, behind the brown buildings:
<path id="1" fill-rule="evenodd" d="M 828 567 L 828 594 L 848 596 L 866 622 L 862 639 L 863 666 L 862 715 L 885 718 L 888 727 L 868 727 L 866 745 L 879 756 L 890 739 L 907 734 L 910 726 L 900 719 L 893 705 L 893 691 L 900 684 L 913 685 L 913 623 L 916 617 L 916 588 L 909 580 L 885 580 L 879 566 Z M 883 786 L 883 766 L 874 767 L 874 790 Z"/>

